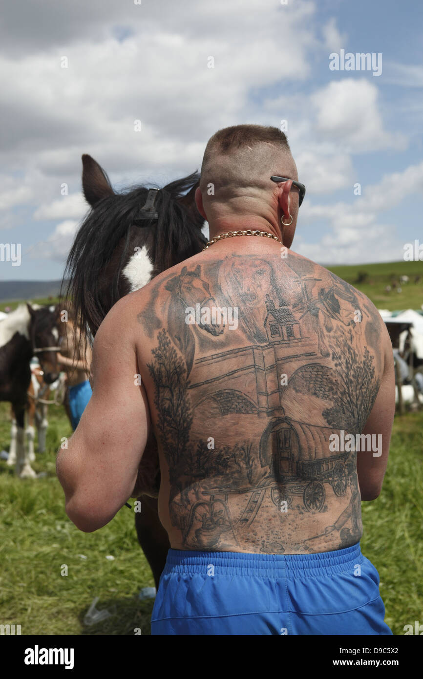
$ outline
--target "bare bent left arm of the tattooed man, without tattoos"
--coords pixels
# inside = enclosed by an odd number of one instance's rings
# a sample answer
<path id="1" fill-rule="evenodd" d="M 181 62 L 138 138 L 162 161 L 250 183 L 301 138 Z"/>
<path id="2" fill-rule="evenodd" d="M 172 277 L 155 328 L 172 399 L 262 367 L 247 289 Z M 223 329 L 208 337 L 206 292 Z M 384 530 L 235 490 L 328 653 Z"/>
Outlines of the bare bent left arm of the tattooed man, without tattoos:
<path id="1" fill-rule="evenodd" d="M 56 469 L 67 515 L 92 532 L 109 523 L 130 497 L 150 430 L 132 315 L 122 299 L 100 325 L 93 346 L 94 388 L 84 414 L 58 453 Z"/>

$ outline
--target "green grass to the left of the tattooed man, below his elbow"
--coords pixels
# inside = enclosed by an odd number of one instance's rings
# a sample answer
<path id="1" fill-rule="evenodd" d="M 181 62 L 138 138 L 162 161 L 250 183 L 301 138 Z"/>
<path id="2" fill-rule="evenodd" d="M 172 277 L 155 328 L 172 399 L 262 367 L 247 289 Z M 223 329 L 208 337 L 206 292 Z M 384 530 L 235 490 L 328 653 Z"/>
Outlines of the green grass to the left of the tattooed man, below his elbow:
<path id="1" fill-rule="evenodd" d="M 8 414 L 9 405 L 0 403 L 0 449 L 6 450 Z M 134 513 L 123 507 L 90 534 L 69 521 L 55 458 L 71 426 L 62 407 L 50 406 L 49 420 L 47 452 L 33 463 L 46 477 L 18 479 L 0 461 L 0 623 L 21 625 L 22 634 L 133 635 L 135 627 L 150 634 L 153 601 L 141 602 L 138 593 L 154 582 L 136 540 Z M 62 564 L 67 576 L 60 575 Z M 86 627 L 84 614 L 94 597 L 98 610 L 107 608 L 113 616 Z"/>

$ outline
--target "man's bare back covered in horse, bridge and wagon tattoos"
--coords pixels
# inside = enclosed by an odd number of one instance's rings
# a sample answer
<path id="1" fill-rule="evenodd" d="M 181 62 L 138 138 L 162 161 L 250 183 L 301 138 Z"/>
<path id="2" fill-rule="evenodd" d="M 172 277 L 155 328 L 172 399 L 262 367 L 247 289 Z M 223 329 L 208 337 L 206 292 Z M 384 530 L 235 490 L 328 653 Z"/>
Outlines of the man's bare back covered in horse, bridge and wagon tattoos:
<path id="1" fill-rule="evenodd" d="M 151 296 L 139 322 L 181 548 L 355 544 L 356 452 L 330 441 L 361 433 L 378 394 L 380 318 L 367 298 L 294 254 L 184 266 Z M 196 304 L 237 308 L 238 327 L 189 325 Z"/>

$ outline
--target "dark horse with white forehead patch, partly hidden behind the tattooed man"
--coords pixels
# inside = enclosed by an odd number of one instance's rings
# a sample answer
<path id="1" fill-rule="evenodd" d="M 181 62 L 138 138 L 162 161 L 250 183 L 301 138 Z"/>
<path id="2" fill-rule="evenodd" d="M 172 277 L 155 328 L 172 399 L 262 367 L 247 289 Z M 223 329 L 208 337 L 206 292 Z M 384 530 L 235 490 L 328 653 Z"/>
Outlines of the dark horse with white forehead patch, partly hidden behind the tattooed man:
<path id="1" fill-rule="evenodd" d="M 94 336 L 118 299 L 199 253 L 206 240 L 201 231 L 204 219 L 194 200 L 198 173 L 160 190 L 140 186 L 116 194 L 90 155 L 82 156 L 82 164 L 82 187 L 91 210 L 75 236 L 64 286 L 81 327 L 88 327 Z M 136 534 L 156 587 L 170 547 L 158 517 L 159 488 L 157 442 L 151 434 L 134 496 L 142 497 L 142 511 L 135 513 Z"/>

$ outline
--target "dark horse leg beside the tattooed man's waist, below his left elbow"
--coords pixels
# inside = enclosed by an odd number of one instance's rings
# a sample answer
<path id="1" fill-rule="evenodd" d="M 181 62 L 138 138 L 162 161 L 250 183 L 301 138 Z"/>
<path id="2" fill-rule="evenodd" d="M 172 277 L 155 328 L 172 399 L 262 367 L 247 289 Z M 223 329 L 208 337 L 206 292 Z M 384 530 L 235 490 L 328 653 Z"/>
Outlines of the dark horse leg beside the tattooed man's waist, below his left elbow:
<path id="1" fill-rule="evenodd" d="M 135 512 L 136 535 L 153 571 L 155 589 L 158 589 L 168 549 L 170 549 L 169 538 L 160 523 L 157 498 L 142 495 L 138 499 L 141 502 L 141 512 Z"/>

